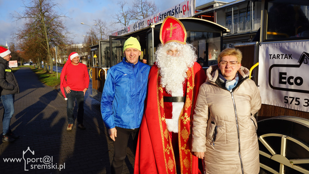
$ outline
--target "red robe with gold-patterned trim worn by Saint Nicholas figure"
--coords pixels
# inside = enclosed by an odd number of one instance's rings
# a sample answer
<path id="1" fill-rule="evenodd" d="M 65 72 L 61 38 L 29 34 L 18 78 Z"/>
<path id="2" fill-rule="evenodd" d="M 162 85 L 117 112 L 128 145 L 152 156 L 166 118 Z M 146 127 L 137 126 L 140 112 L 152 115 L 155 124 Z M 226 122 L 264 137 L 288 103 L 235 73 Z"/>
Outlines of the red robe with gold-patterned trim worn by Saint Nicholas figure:
<path id="1" fill-rule="evenodd" d="M 148 91 L 135 155 L 134 174 L 175 174 L 176 163 L 171 138 L 166 128 L 163 89 L 159 83 L 159 68 L 151 67 Z M 198 158 L 192 155 L 192 120 L 194 106 L 201 84 L 206 80 L 204 70 L 194 63 L 187 71 L 187 91 L 184 107 L 179 116 L 178 144 L 182 174 L 197 174 Z"/>

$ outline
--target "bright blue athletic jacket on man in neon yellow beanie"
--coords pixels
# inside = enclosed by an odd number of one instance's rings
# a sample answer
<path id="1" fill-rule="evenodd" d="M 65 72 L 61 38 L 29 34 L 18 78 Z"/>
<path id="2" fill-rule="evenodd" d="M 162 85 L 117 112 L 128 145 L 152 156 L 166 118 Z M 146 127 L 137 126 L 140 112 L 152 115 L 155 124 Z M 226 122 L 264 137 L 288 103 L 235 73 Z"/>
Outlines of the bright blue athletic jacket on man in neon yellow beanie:
<path id="1" fill-rule="evenodd" d="M 101 113 L 105 126 L 110 129 L 139 128 L 146 98 L 150 66 L 138 62 L 135 65 L 123 58 L 122 62 L 107 71 Z"/>

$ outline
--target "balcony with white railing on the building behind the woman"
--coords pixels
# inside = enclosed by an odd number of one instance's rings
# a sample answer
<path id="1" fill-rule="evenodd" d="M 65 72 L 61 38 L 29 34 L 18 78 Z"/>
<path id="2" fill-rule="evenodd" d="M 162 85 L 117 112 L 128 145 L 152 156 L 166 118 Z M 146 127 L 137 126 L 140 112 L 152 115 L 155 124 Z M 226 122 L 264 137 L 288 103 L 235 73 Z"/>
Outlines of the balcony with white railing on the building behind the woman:
<path id="1" fill-rule="evenodd" d="M 250 32 L 250 31 L 257 31 L 261 26 L 261 19 L 254 19 L 253 26 L 251 21 L 246 22 L 238 22 L 234 24 L 224 25 L 225 28 L 229 29 L 229 33 L 225 33 L 223 35 L 235 34 L 235 33 L 242 33 L 242 32 Z"/>

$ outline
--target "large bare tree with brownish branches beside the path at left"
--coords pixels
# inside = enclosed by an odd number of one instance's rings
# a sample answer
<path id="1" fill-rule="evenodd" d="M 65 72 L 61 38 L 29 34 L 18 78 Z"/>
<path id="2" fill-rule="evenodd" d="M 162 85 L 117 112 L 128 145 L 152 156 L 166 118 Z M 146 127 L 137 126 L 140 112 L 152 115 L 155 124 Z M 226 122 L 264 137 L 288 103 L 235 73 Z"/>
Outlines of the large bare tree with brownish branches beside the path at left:
<path id="1" fill-rule="evenodd" d="M 53 0 L 32 0 L 27 5 L 23 3 L 25 10 L 14 16 L 17 20 L 25 19 L 24 28 L 19 28 L 22 33 L 15 33 L 15 36 L 32 39 L 46 51 L 46 57 L 50 65 L 49 72 L 53 72 L 53 59 L 50 47 L 61 45 L 65 42 L 65 35 L 68 34 L 66 27 L 62 23 L 64 14 L 57 14 L 53 9 L 58 7 Z"/>

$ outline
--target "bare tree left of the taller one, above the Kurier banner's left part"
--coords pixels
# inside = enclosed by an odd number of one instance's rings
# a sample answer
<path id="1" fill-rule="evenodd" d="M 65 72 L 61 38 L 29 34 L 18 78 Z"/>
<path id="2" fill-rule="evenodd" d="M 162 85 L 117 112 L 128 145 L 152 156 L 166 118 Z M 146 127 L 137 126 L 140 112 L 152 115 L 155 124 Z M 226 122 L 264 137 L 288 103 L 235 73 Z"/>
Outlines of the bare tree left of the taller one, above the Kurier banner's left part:
<path id="1" fill-rule="evenodd" d="M 130 21 L 133 18 L 133 10 L 131 10 L 130 8 L 125 9 L 125 4 L 127 4 L 127 2 L 118 1 L 118 5 L 120 6 L 120 11 L 115 14 L 116 17 L 112 17 L 114 18 L 115 24 L 119 23 L 119 24 L 122 24 L 123 26 L 127 26 L 130 24 Z"/>

